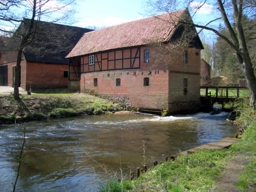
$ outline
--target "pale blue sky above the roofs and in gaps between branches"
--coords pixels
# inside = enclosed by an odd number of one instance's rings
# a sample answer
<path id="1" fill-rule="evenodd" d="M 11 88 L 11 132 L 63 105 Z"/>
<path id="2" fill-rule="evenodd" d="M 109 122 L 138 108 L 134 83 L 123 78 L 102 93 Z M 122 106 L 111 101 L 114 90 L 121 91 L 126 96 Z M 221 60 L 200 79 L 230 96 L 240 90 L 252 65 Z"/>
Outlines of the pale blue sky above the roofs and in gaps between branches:
<path id="1" fill-rule="evenodd" d="M 151 14 L 149 11 L 150 7 L 147 5 L 148 1 L 149 0 L 76 0 L 76 4 L 71 5 L 74 6 L 72 8 L 75 9 L 75 14 L 70 18 L 70 22 L 66 24 L 98 29 L 149 17 Z M 179 3 L 182 1 L 186 2 L 186 0 L 180 0 Z M 200 5 L 200 2 L 203 2 L 203 0 L 195 0 L 190 4 L 190 8 L 194 9 Z M 212 0 L 208 0 L 207 2 L 212 3 Z M 58 5 L 61 4 L 62 0 L 51 0 L 44 8 L 58 7 Z M 185 3 L 180 3 L 179 8 L 185 7 Z M 22 11 L 22 9 L 15 10 L 17 13 Z M 196 13 L 193 20 L 196 23 L 204 24 L 206 21 L 213 19 L 215 13 L 214 5 L 205 4 L 201 7 L 200 11 Z M 190 14 L 193 15 L 191 12 Z M 41 19 L 45 20 L 45 18 Z M 48 21 L 47 18 L 45 21 Z M 0 27 L 3 28 L 1 24 L 2 23 L 0 23 Z M 4 27 L 6 28 L 6 26 Z M 7 27 L 11 28 L 12 26 Z"/>

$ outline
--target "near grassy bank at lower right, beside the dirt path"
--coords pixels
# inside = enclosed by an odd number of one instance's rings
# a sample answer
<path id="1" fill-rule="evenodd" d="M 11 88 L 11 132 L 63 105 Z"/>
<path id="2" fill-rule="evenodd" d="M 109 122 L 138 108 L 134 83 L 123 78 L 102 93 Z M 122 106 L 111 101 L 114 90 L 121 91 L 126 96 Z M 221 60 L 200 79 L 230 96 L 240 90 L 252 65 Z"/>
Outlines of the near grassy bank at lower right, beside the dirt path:
<path id="1" fill-rule="evenodd" d="M 230 148 L 179 156 L 175 161 L 155 166 L 137 180 L 107 182 L 100 191 L 221 191 L 218 185 L 225 179 L 223 172 L 226 167 L 235 166 L 233 161 L 237 157 L 246 164 L 243 171 L 235 175 L 239 178 L 236 188 L 256 191 L 256 111 L 249 110 L 250 107 L 243 103 L 236 107 L 241 113 L 237 126 L 246 129 L 242 139 Z"/>

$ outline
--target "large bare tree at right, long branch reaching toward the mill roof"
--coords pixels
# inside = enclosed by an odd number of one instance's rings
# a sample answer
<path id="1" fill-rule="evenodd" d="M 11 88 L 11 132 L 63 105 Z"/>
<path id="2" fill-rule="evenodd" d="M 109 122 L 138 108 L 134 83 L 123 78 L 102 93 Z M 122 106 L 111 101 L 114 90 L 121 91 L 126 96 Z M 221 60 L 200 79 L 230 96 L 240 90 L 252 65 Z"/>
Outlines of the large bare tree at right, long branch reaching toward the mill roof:
<path id="1" fill-rule="evenodd" d="M 248 18 L 255 17 L 256 3 L 254 0 L 156 0 L 148 2 L 149 6 L 156 12 L 170 12 L 176 9 L 189 7 L 191 17 L 194 17 L 196 13 L 207 6 L 214 7 L 215 12 L 212 15 L 215 15 L 215 18 L 206 21 L 206 24 L 204 25 L 202 23 L 193 23 L 192 21 L 183 18 L 180 18 L 180 23 L 201 30 L 212 31 L 219 38 L 222 38 L 227 42 L 231 49 L 233 49 L 243 74 L 248 81 L 250 106 L 253 109 L 256 108 L 256 78 L 253 71 L 252 55 L 248 49 L 248 39 L 254 39 L 255 34 L 251 37 L 245 36 L 247 23 L 246 20 L 243 19 L 244 15 Z M 225 36 L 221 34 L 218 30 L 218 25 L 213 25 L 214 23 L 223 23 L 228 30 L 228 35 Z M 252 27 L 255 30 L 256 26 Z"/>

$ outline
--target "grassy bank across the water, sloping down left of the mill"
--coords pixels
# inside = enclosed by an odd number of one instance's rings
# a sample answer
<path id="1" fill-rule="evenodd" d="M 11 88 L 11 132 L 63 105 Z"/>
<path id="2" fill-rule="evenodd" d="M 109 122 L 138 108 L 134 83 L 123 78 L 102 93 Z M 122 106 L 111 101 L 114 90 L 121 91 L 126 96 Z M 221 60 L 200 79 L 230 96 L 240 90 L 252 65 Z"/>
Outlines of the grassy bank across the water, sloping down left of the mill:
<path id="1" fill-rule="evenodd" d="M 20 100 L 15 100 L 12 95 L 0 95 L 0 123 L 107 114 L 124 109 L 119 103 L 111 103 L 93 95 L 59 92 L 21 95 Z"/>

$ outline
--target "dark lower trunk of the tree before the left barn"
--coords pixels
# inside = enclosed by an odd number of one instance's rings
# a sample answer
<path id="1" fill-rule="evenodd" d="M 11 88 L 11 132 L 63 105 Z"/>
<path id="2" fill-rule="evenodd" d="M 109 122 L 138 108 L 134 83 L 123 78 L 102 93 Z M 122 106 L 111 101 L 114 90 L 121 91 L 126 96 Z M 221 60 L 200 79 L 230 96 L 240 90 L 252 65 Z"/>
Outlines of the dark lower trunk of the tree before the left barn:
<path id="1" fill-rule="evenodd" d="M 20 69 L 21 69 L 21 56 L 22 56 L 22 51 L 18 51 L 17 55 L 17 64 L 15 67 L 15 78 L 14 78 L 14 99 L 19 100 L 20 95 L 19 95 L 19 86 L 20 86 Z"/>

